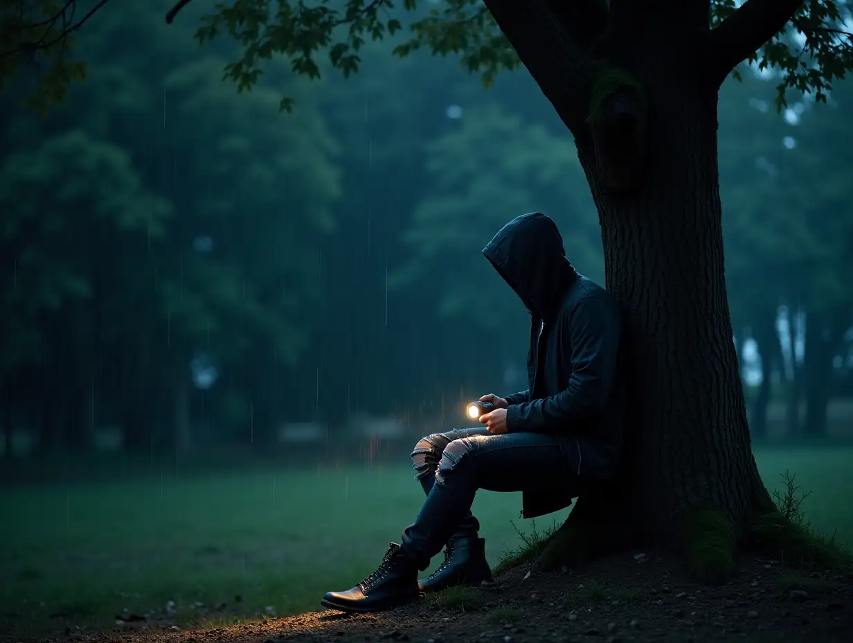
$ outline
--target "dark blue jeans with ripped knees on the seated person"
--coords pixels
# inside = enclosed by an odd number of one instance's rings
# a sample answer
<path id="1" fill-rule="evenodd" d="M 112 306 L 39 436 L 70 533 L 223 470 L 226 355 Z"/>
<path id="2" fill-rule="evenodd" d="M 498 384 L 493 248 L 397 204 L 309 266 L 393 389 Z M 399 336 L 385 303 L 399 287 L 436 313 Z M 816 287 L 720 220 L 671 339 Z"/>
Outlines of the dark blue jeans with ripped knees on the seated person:
<path id="1" fill-rule="evenodd" d="M 421 439 L 412 453 L 427 501 L 403 531 L 403 552 L 421 570 L 455 535 L 476 536 L 471 512 L 477 489 L 524 491 L 568 483 L 571 473 L 552 435 L 456 429 Z"/>

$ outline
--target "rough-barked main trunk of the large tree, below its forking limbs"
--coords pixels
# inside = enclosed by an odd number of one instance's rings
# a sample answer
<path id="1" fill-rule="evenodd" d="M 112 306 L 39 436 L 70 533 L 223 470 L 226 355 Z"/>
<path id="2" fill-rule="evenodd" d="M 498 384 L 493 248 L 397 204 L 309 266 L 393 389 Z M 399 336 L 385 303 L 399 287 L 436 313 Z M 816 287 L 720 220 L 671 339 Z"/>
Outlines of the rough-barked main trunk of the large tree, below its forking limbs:
<path id="1" fill-rule="evenodd" d="M 653 132 L 641 190 L 608 196 L 589 151 L 581 160 L 601 219 L 606 286 L 627 320 L 631 513 L 642 540 L 677 547 L 692 507 L 710 502 L 746 529 L 766 492 L 728 315 L 717 90 L 691 87 L 687 69 L 647 63 L 635 70 Z"/>

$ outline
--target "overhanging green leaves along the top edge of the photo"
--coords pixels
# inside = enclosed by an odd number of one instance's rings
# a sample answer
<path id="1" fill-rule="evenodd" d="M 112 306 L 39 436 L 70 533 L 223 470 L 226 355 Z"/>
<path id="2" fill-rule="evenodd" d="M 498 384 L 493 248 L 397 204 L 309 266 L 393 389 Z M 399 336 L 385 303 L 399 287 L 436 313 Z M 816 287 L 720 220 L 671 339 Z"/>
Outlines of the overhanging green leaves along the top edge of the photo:
<path id="1" fill-rule="evenodd" d="M 177 3 L 167 20 L 179 20 L 178 12 L 190 1 Z M 34 77 L 28 102 L 44 107 L 60 101 L 67 85 L 85 73 L 84 61 L 73 56 L 74 35 L 108 3 L 4 3 L 0 14 L 0 39 L 4 43 L 0 86 L 22 67 L 35 66 L 41 73 Z M 576 34 L 598 24 L 605 3 L 585 0 L 569 7 L 557 0 L 531 0 L 526 4 L 529 14 L 546 10 Z M 521 63 L 495 17 L 511 11 L 512 4 L 508 0 L 339 0 L 314 4 L 235 0 L 218 3 L 213 12 L 202 15 L 195 38 L 205 43 L 227 37 L 240 44 L 240 55 L 223 69 L 224 77 L 232 79 L 241 91 L 256 85 L 276 57 L 286 60 L 294 73 L 311 79 L 319 78 L 323 68 L 347 77 L 358 71 L 368 41 L 395 36 L 400 38 L 393 50 L 396 56 L 421 48 L 439 56 L 453 54 L 468 71 L 478 73 L 485 85 L 491 85 L 500 70 L 514 69 Z M 853 67 L 853 28 L 847 0 L 705 0 L 697 3 L 697 9 L 705 13 L 720 41 L 734 44 L 727 54 L 733 60 L 721 61 L 722 67 L 734 67 L 746 59 L 759 69 L 778 71 L 775 102 L 779 109 L 787 104 L 789 90 L 812 93 L 816 100 L 826 101 L 833 82 L 843 79 Z M 788 20 L 790 15 L 793 17 Z M 751 50 L 756 40 L 754 29 L 766 36 L 760 50 Z M 583 37 L 579 43 L 583 44 Z M 673 51 L 673 55 L 678 53 Z M 595 60 L 595 49 L 590 58 Z M 293 96 L 281 96 L 280 104 L 289 110 Z"/>

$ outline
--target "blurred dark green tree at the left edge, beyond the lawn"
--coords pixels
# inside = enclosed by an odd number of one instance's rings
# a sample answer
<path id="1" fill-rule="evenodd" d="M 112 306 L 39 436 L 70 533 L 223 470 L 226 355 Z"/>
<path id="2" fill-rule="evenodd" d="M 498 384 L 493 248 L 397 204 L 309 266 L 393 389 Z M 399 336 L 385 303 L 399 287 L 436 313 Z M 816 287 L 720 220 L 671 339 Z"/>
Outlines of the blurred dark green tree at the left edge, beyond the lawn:
<path id="1" fill-rule="evenodd" d="M 0 164 L 0 211 L 0 261 L 12 276 L 0 289 L 0 389 L 38 367 L 43 440 L 87 446 L 93 383 L 134 325 L 137 308 L 117 305 L 133 290 L 121 276 L 138 273 L 171 206 L 145 189 L 124 150 L 74 131 Z"/>

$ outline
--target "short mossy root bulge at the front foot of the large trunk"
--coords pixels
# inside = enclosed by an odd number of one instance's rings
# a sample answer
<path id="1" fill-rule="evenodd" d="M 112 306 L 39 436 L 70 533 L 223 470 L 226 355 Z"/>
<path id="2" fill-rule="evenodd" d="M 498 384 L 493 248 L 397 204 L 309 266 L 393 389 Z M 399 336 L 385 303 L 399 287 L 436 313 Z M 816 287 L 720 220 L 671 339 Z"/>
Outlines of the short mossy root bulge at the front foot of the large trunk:
<path id="1" fill-rule="evenodd" d="M 717 584 L 734 573 L 738 531 L 722 511 L 694 508 L 684 520 L 684 551 L 688 570 L 699 582 Z"/>

